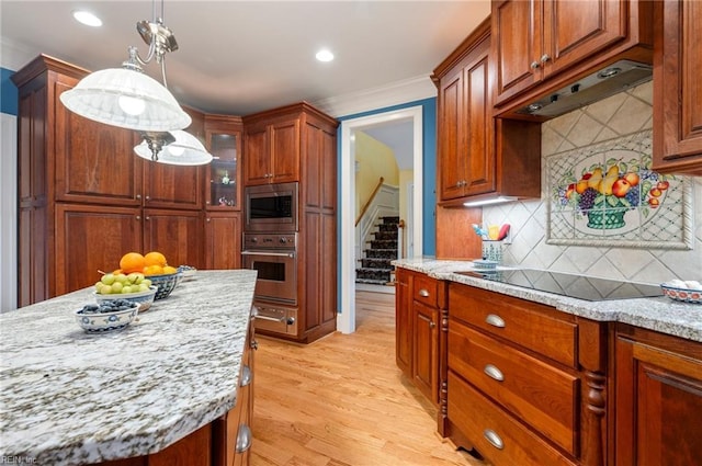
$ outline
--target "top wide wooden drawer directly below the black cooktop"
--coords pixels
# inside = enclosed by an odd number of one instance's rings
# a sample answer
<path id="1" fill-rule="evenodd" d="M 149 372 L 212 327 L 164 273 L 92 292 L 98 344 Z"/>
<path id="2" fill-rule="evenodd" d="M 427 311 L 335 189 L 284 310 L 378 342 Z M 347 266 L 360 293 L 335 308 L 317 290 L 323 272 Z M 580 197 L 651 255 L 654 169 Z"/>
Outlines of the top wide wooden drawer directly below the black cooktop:
<path id="1" fill-rule="evenodd" d="M 556 309 L 499 293 L 452 284 L 449 319 L 458 319 L 570 367 L 577 364 L 578 326 Z"/>

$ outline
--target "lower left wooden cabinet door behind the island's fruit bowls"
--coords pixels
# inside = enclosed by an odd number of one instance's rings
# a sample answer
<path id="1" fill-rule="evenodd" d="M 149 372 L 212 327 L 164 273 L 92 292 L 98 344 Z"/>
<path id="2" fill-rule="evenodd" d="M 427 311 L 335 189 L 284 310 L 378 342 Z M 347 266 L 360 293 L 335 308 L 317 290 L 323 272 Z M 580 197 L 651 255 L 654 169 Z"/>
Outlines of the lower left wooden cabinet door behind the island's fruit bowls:
<path id="1" fill-rule="evenodd" d="M 56 295 L 94 284 L 129 251 L 141 251 L 139 208 L 56 204 Z"/>

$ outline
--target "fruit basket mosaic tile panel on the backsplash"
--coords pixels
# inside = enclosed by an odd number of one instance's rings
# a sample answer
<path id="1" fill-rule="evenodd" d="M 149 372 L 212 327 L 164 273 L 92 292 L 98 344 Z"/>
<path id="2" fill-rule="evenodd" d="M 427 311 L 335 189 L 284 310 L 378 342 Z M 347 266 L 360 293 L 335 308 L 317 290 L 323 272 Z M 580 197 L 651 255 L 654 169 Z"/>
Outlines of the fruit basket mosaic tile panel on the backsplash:
<path id="1" fill-rule="evenodd" d="M 652 170 L 652 130 L 546 159 L 547 242 L 692 249 L 689 179 Z"/>

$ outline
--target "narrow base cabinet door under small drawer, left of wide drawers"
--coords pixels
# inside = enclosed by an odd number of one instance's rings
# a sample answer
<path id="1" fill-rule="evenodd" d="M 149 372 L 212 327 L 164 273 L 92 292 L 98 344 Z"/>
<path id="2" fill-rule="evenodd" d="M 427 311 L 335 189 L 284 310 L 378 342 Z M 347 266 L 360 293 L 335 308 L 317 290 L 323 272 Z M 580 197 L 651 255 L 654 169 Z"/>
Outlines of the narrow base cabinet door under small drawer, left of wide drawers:
<path id="1" fill-rule="evenodd" d="M 434 405 L 439 402 L 438 311 L 421 303 L 412 303 L 412 379 Z"/>

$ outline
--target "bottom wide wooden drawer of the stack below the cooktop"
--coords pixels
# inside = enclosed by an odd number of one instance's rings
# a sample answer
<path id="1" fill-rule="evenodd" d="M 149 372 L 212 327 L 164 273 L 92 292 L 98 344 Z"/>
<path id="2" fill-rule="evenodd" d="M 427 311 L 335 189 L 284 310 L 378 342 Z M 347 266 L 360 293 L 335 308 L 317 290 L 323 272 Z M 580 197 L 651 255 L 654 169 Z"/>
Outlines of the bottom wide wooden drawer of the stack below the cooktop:
<path id="1" fill-rule="evenodd" d="M 449 371 L 449 421 L 496 466 L 575 463 Z"/>

